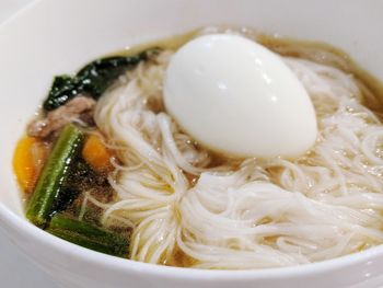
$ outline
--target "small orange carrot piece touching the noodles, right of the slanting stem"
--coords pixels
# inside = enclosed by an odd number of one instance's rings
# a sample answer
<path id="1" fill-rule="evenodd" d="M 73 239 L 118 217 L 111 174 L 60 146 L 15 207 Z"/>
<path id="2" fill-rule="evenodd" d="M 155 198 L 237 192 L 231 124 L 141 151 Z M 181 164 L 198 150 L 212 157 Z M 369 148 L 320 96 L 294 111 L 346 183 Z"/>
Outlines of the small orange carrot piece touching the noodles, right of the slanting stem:
<path id="1" fill-rule="evenodd" d="M 108 172 L 113 170 L 111 163 L 113 154 L 104 146 L 102 139 L 98 136 L 88 136 L 84 147 L 82 149 L 82 158 L 98 172 Z"/>

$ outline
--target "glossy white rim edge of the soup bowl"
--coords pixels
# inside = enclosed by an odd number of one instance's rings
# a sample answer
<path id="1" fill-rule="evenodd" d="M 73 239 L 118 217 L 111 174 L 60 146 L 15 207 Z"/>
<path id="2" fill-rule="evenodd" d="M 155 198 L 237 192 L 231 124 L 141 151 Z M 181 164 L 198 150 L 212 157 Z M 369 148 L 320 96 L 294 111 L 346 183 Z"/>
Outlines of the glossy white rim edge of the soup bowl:
<path id="1" fill-rule="evenodd" d="M 18 21 L 25 13 L 28 13 L 35 5 L 44 2 L 45 0 L 33 0 L 24 8 L 14 13 L 11 18 L 0 24 L 0 34 L 7 30 L 7 26 Z M 0 228 L 4 227 L 7 230 L 18 230 L 18 234 L 39 243 L 47 249 L 54 249 L 69 255 L 72 258 L 81 258 L 85 262 L 92 262 L 97 266 L 104 266 L 105 268 L 113 268 L 117 272 L 126 270 L 139 270 L 141 274 L 150 276 L 176 278 L 176 279 L 213 279 L 219 277 L 220 280 L 246 280 L 246 279 L 286 279 L 298 278 L 302 276 L 309 276 L 313 274 L 325 274 L 328 272 L 339 270 L 351 265 L 368 263 L 378 255 L 383 255 L 383 244 L 373 246 L 365 251 L 361 251 L 353 254 L 344 255 L 336 258 L 325 260 L 322 262 L 287 266 L 275 268 L 262 268 L 262 269 L 200 269 L 200 268 L 186 268 L 175 266 L 164 266 L 158 264 L 142 263 L 128 258 L 119 258 L 104 253 L 100 253 L 90 249 L 79 246 L 68 241 L 61 240 L 55 235 L 47 233 L 46 231 L 33 226 L 26 218 L 23 218 L 12 210 L 10 210 L 4 204 L 0 203 Z M 7 229 L 11 227 L 11 229 Z M 12 237 L 5 233 L 9 239 Z"/>

